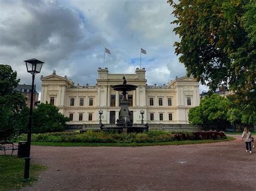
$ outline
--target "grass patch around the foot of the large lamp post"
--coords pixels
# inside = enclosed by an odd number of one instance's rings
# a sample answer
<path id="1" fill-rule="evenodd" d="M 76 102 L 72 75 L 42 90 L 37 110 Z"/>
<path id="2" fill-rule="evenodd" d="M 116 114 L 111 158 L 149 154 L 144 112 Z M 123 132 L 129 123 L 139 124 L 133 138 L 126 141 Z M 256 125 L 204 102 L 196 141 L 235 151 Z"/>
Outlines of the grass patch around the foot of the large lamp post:
<path id="1" fill-rule="evenodd" d="M 23 181 L 24 158 L 0 155 L 0 190 L 20 189 L 32 185 L 37 180 L 38 172 L 45 166 L 30 164 L 30 179 Z"/>

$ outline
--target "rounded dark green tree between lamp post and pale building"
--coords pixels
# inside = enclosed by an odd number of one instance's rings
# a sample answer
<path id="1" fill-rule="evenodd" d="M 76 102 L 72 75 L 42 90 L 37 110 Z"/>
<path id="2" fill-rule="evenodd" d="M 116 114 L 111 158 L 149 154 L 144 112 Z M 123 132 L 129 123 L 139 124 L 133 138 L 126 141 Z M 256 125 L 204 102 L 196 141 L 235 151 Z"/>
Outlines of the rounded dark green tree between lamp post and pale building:
<path id="1" fill-rule="evenodd" d="M 41 103 L 33 110 L 32 132 L 64 131 L 68 117 L 59 113 L 59 109 L 52 104 Z"/>

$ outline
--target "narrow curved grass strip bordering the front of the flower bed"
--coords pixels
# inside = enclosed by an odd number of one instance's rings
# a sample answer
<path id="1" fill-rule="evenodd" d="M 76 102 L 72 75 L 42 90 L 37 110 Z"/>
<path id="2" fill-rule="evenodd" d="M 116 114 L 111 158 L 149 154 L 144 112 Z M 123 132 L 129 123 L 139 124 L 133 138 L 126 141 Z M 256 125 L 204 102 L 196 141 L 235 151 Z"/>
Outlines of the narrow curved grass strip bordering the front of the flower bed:
<path id="1" fill-rule="evenodd" d="M 40 146 L 157 146 L 157 145 L 187 145 L 187 144 L 203 144 L 216 143 L 235 140 L 234 137 L 227 137 L 220 140 L 179 140 L 173 142 L 157 142 L 157 143 L 53 143 L 53 142 L 31 142 L 32 145 Z"/>

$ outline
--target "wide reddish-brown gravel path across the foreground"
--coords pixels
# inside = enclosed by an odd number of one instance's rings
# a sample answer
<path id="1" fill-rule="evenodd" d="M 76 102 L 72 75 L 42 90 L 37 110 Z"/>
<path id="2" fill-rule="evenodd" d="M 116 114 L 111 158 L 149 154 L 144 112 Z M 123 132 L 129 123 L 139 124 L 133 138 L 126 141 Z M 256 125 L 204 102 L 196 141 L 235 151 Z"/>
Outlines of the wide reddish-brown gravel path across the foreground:
<path id="1" fill-rule="evenodd" d="M 31 162 L 49 168 L 24 190 L 256 190 L 256 153 L 246 153 L 239 139 L 180 146 L 31 148 Z"/>

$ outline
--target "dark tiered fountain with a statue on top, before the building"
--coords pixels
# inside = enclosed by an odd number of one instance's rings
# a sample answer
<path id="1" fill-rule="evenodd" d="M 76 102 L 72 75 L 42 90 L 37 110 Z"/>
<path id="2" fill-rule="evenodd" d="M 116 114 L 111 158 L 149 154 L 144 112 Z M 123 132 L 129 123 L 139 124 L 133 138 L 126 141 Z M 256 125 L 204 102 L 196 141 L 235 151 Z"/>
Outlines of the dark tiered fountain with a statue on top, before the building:
<path id="1" fill-rule="evenodd" d="M 117 119 L 117 124 L 115 126 L 105 126 L 100 123 L 100 130 L 102 131 L 114 131 L 114 132 L 143 132 L 149 130 L 149 125 L 136 125 L 133 126 L 133 122 L 129 116 L 129 101 L 126 98 L 127 91 L 136 90 L 137 86 L 126 84 L 127 81 L 125 76 L 123 77 L 123 84 L 118 84 L 112 86 L 113 90 L 122 91 L 123 97 L 120 100 L 120 117 Z"/>

